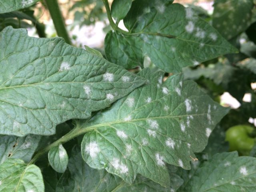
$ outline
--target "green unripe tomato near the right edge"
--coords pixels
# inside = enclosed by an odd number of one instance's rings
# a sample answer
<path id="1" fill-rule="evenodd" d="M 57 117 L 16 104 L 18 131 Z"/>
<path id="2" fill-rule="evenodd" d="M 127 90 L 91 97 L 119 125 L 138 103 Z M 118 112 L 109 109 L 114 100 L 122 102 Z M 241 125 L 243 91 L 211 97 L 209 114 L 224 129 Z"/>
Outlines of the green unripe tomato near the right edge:
<path id="1" fill-rule="evenodd" d="M 249 155 L 255 144 L 255 138 L 250 134 L 254 128 L 248 125 L 236 125 L 226 131 L 226 141 L 229 142 L 230 151 L 238 151 L 241 155 Z"/>

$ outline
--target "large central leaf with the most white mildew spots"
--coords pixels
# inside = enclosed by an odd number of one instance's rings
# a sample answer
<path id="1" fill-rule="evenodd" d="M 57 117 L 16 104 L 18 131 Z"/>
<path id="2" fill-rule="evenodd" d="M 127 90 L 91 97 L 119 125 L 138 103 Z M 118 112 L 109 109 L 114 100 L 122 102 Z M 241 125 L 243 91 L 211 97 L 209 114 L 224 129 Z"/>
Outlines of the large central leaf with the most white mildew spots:
<path id="1" fill-rule="evenodd" d="M 213 102 L 192 81 L 163 73 L 140 75 L 148 84 L 77 126 L 88 128 L 82 155 L 92 168 L 103 169 L 132 183 L 137 174 L 163 186 L 170 184 L 166 164 L 190 169 L 216 123 L 228 109 Z M 204 101 L 204 102 L 202 102 Z"/>

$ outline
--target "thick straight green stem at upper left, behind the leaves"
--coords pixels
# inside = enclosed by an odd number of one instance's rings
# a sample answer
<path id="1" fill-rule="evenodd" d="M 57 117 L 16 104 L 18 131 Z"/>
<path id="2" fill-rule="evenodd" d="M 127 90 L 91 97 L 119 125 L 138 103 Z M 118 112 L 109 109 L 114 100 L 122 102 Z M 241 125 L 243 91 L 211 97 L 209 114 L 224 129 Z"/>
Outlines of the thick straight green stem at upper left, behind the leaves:
<path id="1" fill-rule="evenodd" d="M 71 44 L 57 0 L 45 0 L 45 2 L 58 36 L 63 37 L 66 43 Z"/>

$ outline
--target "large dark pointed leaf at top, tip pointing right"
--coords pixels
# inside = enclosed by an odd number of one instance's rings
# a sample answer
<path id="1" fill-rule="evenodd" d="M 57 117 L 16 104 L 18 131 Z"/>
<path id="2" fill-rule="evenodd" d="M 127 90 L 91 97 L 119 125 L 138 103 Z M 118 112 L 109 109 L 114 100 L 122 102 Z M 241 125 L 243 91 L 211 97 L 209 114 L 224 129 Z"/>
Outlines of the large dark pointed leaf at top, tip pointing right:
<path id="1" fill-rule="evenodd" d="M 236 52 L 191 8 L 168 1 L 135 0 L 124 18 L 129 32 L 110 31 L 105 38 L 108 60 L 134 68 L 144 56 L 166 72 L 180 72 L 221 54 Z"/>

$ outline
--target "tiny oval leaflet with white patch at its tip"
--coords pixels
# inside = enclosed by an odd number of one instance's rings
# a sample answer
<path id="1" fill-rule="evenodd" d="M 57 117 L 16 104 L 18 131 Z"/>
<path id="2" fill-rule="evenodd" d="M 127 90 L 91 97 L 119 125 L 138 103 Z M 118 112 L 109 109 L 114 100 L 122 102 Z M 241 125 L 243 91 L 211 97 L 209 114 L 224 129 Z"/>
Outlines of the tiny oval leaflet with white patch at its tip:
<path id="1" fill-rule="evenodd" d="M 51 148 L 48 160 L 52 168 L 59 173 L 64 173 L 68 166 L 68 154 L 62 145 Z"/>

